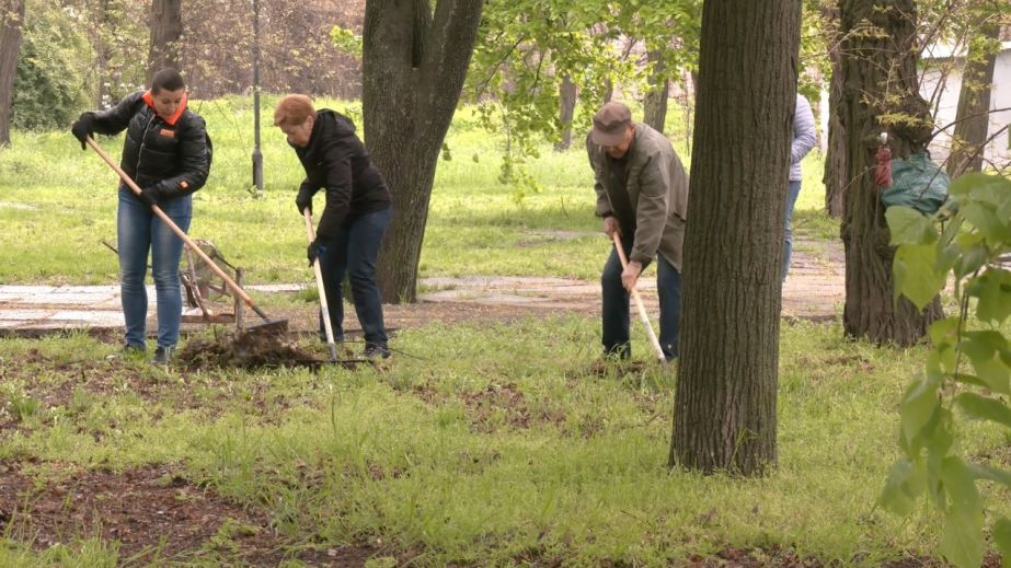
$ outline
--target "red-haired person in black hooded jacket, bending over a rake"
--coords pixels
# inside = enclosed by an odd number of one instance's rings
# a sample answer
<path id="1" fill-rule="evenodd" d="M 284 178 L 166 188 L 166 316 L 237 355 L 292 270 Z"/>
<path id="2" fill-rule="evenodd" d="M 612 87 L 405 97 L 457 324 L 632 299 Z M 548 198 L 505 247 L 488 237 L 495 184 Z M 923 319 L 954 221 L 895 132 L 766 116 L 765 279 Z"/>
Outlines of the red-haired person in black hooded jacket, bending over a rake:
<path id="1" fill-rule="evenodd" d="M 334 340 L 344 340 L 341 285 L 346 274 L 365 332 L 365 357 L 390 357 L 376 283 L 379 247 L 393 202 L 382 174 L 355 135 L 352 120 L 328 108 L 317 112 L 306 95 L 282 98 L 274 111 L 274 126 L 285 134 L 306 170 L 295 199 L 299 215 L 306 209 L 312 212 L 312 197 L 321 188 L 325 192 L 326 206 L 307 256 L 310 265 L 320 258 Z M 320 314 L 321 329 L 323 316 Z"/>

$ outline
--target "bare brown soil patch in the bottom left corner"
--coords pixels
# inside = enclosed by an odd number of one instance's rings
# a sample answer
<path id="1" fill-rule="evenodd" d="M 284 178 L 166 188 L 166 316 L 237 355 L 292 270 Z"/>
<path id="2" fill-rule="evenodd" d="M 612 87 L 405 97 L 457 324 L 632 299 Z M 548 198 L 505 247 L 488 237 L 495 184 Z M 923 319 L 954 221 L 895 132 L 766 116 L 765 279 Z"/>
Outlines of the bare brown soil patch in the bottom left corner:
<path id="1" fill-rule="evenodd" d="M 216 554 L 250 566 L 285 558 L 363 566 L 375 556 L 397 556 L 371 544 L 287 553 L 265 512 L 238 507 L 166 466 L 76 472 L 37 486 L 20 464 L 0 464 L 0 531 L 35 548 L 74 538 L 118 541 L 119 558 L 138 563 Z"/>

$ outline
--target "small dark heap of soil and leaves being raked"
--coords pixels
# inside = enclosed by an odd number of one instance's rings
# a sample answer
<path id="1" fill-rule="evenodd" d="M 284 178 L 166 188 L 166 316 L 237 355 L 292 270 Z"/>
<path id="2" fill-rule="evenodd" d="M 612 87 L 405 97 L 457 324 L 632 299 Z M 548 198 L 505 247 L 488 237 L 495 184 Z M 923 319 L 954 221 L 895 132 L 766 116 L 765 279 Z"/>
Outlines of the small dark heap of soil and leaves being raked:
<path id="1" fill-rule="evenodd" d="M 233 367 L 239 369 L 277 369 L 308 367 L 319 369 L 323 360 L 285 341 L 282 334 L 220 334 L 215 339 L 191 339 L 180 349 L 176 362 L 192 371 Z"/>

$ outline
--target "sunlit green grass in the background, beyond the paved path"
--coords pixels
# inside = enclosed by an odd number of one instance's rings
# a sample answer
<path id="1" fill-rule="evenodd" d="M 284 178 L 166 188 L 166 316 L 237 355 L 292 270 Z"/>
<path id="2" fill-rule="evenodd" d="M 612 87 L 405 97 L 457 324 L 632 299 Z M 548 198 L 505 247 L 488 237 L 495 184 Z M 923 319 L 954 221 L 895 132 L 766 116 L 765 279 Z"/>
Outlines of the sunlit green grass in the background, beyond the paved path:
<path id="1" fill-rule="evenodd" d="M 246 100 L 196 102 L 215 141 L 207 186 L 195 195 L 189 234 L 209 239 L 251 282 L 308 281 L 305 225 L 295 210 L 302 171 L 280 132 L 266 126 L 274 98 L 264 102 L 265 192 L 249 192 L 253 132 Z M 321 106 L 360 116 L 357 103 Z M 679 118 L 674 106 L 668 123 Z M 359 128 L 360 128 L 360 120 Z M 677 135 L 676 135 L 677 137 Z M 582 136 L 575 136 L 581 140 Z M 113 157 L 122 136 L 100 137 Z M 502 139 L 476 126 L 463 108 L 449 130 L 452 159 L 439 162 L 421 258 L 421 276 L 510 275 L 595 279 L 608 243 L 593 215 L 591 172 L 582 143 L 558 153 L 544 144 L 530 161 L 540 193 L 516 199 L 498 183 Z M 687 149 L 679 144 L 687 163 Z M 476 161 L 475 161 L 476 160 Z M 838 239 L 838 221 L 822 212 L 822 160 L 804 162 L 796 231 Z M 0 281 L 7 283 L 114 283 L 115 255 L 101 244 L 116 240 L 115 174 L 67 131 L 13 132 L 0 150 Z"/>

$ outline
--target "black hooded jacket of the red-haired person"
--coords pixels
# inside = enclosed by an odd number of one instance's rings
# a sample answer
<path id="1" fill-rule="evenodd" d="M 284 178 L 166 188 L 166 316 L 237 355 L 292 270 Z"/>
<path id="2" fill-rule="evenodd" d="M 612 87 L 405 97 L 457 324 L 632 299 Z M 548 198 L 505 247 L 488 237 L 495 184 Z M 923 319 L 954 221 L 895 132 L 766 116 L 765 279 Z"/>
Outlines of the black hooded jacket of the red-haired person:
<path id="1" fill-rule="evenodd" d="M 306 169 L 299 194 L 312 196 L 321 187 L 326 189 L 326 208 L 317 229 L 320 240 L 336 236 L 347 217 L 389 209 L 393 202 L 382 174 L 346 116 L 329 108 L 319 111 L 309 143 L 292 148 Z"/>

